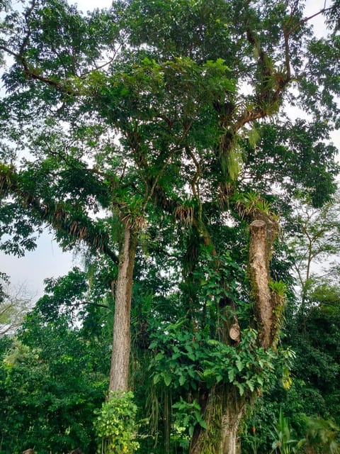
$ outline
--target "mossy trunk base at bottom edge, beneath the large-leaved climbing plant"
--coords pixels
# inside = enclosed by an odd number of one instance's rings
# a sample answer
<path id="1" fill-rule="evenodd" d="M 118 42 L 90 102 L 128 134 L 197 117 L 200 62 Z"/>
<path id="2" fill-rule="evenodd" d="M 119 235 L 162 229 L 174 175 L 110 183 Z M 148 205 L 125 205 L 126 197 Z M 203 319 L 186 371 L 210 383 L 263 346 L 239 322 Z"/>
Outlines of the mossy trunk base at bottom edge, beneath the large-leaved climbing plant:
<path id="1" fill-rule="evenodd" d="M 196 426 L 189 454 L 239 454 L 239 422 L 246 399 L 235 387 L 212 387 L 205 403 L 204 420 L 208 428 Z"/>

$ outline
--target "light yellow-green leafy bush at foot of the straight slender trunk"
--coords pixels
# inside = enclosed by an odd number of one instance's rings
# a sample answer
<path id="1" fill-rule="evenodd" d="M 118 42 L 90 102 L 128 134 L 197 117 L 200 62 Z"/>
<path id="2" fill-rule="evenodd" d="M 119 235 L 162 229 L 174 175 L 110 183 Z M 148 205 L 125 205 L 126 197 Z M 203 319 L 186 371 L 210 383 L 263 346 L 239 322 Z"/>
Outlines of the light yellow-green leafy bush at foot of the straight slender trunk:
<path id="1" fill-rule="evenodd" d="M 111 393 L 95 421 L 96 435 L 101 439 L 98 453 L 131 454 L 138 450 L 136 413 L 132 392 Z"/>

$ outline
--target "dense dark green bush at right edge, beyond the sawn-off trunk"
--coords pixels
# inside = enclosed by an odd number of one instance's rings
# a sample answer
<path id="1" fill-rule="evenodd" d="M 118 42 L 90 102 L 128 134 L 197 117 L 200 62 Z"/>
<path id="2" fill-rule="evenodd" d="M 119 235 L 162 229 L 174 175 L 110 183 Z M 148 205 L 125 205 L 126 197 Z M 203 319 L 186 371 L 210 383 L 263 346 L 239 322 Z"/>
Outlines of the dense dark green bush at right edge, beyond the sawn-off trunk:
<path id="1" fill-rule="evenodd" d="M 310 416 L 339 421 L 339 288 L 324 282 L 314 288 L 307 308 L 297 313 L 290 342 L 297 354 L 293 374 L 305 382 L 301 396 Z"/>

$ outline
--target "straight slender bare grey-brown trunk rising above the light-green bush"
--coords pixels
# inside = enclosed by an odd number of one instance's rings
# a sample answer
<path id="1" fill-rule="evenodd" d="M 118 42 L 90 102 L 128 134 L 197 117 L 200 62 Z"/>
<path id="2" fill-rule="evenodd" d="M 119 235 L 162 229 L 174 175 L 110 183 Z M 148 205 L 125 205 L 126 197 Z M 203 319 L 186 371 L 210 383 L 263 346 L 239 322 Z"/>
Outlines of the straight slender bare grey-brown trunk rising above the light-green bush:
<path id="1" fill-rule="evenodd" d="M 118 278 L 115 287 L 115 314 L 109 391 L 127 391 L 130 362 L 130 310 L 137 233 L 124 223 L 125 235 L 120 250 Z"/>

